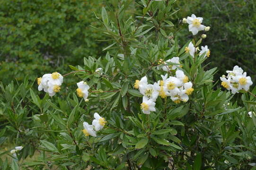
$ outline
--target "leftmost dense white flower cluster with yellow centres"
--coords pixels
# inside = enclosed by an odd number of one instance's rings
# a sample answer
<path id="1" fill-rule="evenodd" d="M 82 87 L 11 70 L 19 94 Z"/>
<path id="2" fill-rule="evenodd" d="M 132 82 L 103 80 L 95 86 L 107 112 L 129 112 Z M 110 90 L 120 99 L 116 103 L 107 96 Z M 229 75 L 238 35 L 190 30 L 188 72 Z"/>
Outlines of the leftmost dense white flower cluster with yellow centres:
<path id="1" fill-rule="evenodd" d="M 45 93 L 49 93 L 49 96 L 53 96 L 57 92 L 60 92 L 62 82 L 63 76 L 58 72 L 44 74 L 43 77 L 37 78 L 38 90 L 44 90 Z"/>

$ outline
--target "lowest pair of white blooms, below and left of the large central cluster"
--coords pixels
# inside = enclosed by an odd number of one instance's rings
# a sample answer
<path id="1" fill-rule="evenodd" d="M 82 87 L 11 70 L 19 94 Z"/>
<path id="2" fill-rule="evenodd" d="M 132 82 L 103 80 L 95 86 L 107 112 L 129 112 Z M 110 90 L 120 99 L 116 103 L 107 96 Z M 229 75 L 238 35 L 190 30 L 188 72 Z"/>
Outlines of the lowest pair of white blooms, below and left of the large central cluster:
<path id="1" fill-rule="evenodd" d="M 94 113 L 94 118 L 92 125 L 89 125 L 87 122 L 83 122 L 84 129 L 82 131 L 85 136 L 97 136 L 96 132 L 105 126 L 105 118 L 100 117 L 98 113 Z"/>

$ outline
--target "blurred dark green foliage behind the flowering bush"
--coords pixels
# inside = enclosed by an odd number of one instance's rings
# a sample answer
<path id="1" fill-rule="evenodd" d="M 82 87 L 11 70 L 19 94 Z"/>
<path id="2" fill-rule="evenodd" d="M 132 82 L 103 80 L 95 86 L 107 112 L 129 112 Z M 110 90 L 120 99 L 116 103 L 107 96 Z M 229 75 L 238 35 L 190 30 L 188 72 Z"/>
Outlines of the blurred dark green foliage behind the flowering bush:
<path id="1" fill-rule="evenodd" d="M 100 14 L 102 6 L 111 10 L 110 1 L 117 0 L 0 0 L 0 81 L 64 74 L 84 57 L 105 56 L 110 42 L 97 41 L 105 37 L 90 25 L 100 26 L 94 12 Z M 185 44 L 192 34 L 181 19 L 192 13 L 203 17 L 211 26 L 203 44 L 211 49 L 207 67 L 219 69 L 215 78 L 235 65 L 255 78 L 255 5 L 255 0 L 177 0 L 172 32 Z"/>

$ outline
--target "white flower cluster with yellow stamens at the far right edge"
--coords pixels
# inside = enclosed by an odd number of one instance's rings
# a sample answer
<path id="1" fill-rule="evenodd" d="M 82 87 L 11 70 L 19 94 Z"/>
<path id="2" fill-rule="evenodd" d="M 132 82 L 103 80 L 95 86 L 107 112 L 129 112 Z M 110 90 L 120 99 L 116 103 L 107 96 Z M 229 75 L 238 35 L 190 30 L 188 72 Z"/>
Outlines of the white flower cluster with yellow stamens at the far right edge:
<path id="1" fill-rule="evenodd" d="M 232 71 L 226 71 L 228 76 L 221 76 L 221 85 L 228 90 L 231 90 L 231 93 L 238 93 L 239 90 L 248 91 L 250 85 L 252 85 L 252 80 L 250 76 L 247 76 L 247 73 L 243 71 L 242 68 L 235 66 Z M 243 73 L 244 72 L 244 73 Z"/>

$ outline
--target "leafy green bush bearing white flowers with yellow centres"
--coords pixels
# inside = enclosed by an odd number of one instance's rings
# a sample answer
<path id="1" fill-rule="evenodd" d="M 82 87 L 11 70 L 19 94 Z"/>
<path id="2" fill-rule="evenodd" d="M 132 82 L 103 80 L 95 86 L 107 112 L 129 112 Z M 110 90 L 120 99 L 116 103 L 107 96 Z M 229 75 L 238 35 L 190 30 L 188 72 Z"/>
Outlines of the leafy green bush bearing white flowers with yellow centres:
<path id="1" fill-rule="evenodd" d="M 193 39 L 179 44 L 166 33 L 175 1 L 141 0 L 142 13 L 133 18 L 126 15 L 132 0 L 112 0 L 111 10 L 96 15 L 111 41 L 106 56 L 37 78 L 44 97 L 27 78 L 18 89 L 0 85 L 7 120 L 0 143 L 18 146 L 0 153 L 12 158 L 0 159 L 1 169 L 255 170 L 251 77 L 235 66 L 213 80 L 217 68 L 204 70 L 211 44 L 202 34 L 214 28 L 192 14 L 179 26 Z M 59 92 L 71 76 L 78 88 L 66 89 L 64 98 Z M 236 93 L 243 93 L 242 106 L 230 102 Z M 26 161 L 35 151 L 40 155 Z"/>

